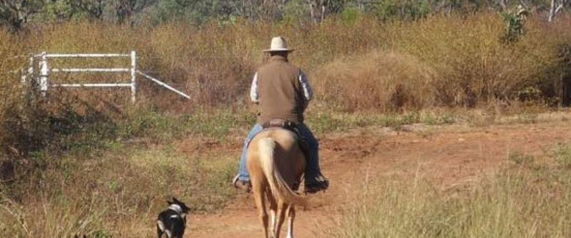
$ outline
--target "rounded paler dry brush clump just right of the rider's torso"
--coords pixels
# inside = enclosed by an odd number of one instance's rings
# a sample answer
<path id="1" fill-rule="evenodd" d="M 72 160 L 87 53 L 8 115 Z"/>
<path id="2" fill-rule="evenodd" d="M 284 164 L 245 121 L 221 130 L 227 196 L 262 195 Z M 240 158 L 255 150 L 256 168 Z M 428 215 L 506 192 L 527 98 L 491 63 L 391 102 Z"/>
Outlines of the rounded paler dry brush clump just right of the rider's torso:
<path id="1" fill-rule="evenodd" d="M 328 63 L 313 75 L 320 99 L 343 111 L 418 110 L 436 105 L 436 88 L 432 87 L 436 72 L 411 55 L 360 55 Z"/>

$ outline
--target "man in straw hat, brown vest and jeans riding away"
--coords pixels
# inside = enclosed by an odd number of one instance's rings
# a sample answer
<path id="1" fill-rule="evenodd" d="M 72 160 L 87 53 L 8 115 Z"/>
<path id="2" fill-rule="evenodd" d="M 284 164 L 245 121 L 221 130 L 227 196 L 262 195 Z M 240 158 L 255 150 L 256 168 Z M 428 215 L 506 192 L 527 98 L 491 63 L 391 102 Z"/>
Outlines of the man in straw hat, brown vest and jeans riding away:
<path id="1" fill-rule="evenodd" d="M 329 187 L 329 181 L 319 168 L 319 144 L 303 123 L 303 112 L 312 96 L 311 87 L 304 72 L 289 63 L 291 51 L 283 37 L 272 38 L 270 49 L 264 50 L 270 54 L 270 59 L 254 75 L 250 90 L 250 98 L 259 105 L 260 114 L 258 123 L 244 142 L 240 171 L 233 181 L 236 188 L 250 190 L 250 175 L 246 170 L 248 144 L 256 134 L 269 127 L 287 128 L 300 137 L 301 149 L 307 160 L 305 192 L 316 193 Z"/>

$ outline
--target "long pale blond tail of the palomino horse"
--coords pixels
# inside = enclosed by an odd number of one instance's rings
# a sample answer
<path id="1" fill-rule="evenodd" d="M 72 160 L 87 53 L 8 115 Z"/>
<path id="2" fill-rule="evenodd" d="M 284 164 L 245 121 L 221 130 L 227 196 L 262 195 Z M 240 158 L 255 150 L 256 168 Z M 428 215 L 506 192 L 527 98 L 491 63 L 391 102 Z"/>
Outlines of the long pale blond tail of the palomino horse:
<path id="1" fill-rule="evenodd" d="M 258 146 L 262 170 L 264 171 L 264 175 L 266 175 L 272 195 L 274 195 L 276 199 L 279 198 L 288 203 L 304 206 L 306 203 L 305 197 L 292 191 L 286 181 L 284 181 L 278 167 L 276 167 L 274 161 L 275 140 L 272 138 L 262 138 Z"/>

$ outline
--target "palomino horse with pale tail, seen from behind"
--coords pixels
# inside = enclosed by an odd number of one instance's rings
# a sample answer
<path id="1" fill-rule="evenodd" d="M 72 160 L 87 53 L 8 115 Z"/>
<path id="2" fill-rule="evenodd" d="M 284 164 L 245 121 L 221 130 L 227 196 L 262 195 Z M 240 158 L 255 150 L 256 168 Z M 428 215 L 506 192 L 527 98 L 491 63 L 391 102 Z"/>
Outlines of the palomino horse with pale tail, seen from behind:
<path id="1" fill-rule="evenodd" d="M 287 238 L 293 238 L 294 205 L 305 205 L 305 197 L 292 190 L 297 189 L 305 170 L 305 158 L 298 141 L 293 132 L 279 128 L 260 132 L 250 142 L 246 166 L 266 237 L 279 238 L 287 213 Z"/>

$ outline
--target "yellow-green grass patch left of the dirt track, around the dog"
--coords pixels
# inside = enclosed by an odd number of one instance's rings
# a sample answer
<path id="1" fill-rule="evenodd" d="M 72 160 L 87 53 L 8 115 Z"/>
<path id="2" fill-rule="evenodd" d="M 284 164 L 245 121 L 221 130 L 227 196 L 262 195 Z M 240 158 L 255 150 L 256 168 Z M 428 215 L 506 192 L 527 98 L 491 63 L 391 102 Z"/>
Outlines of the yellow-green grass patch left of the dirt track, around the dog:
<path id="1" fill-rule="evenodd" d="M 235 192 L 228 185 L 236 170 L 233 152 L 145 144 L 35 156 L 0 186 L 2 235 L 146 236 L 170 196 L 192 213 L 207 213 L 223 208 Z"/>

